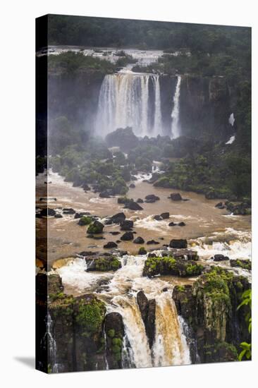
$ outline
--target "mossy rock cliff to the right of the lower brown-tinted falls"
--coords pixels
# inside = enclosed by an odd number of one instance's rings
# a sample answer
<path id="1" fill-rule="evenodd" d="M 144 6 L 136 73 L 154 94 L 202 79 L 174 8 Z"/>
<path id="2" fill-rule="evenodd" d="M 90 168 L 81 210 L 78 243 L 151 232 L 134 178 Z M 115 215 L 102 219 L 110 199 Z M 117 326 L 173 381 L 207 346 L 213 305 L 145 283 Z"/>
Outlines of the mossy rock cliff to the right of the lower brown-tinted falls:
<path id="1" fill-rule="evenodd" d="M 203 274 L 193 286 L 176 286 L 173 300 L 197 341 L 202 363 L 237 359 L 238 346 L 248 341 L 245 310 L 237 310 L 242 292 L 250 288 L 245 277 L 219 267 Z"/>

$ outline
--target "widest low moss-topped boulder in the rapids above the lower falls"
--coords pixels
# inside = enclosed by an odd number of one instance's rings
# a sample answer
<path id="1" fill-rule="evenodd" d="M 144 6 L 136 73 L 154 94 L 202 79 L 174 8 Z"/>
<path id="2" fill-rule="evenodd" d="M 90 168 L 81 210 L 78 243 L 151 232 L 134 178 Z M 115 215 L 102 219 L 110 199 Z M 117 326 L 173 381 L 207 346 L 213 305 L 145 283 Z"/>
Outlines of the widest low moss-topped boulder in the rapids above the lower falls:
<path id="1" fill-rule="evenodd" d="M 175 257 L 148 257 L 145 261 L 142 276 L 154 277 L 155 275 L 174 275 L 179 277 L 192 277 L 202 273 L 204 267 L 192 260 Z"/>

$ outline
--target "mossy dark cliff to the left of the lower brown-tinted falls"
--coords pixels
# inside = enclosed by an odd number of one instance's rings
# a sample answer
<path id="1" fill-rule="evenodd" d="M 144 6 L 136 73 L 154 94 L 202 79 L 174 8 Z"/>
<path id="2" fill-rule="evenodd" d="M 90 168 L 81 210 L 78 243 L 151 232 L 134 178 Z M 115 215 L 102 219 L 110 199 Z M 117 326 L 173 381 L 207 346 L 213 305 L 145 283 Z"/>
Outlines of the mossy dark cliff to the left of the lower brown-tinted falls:
<path id="1" fill-rule="evenodd" d="M 104 303 L 92 294 L 77 298 L 66 295 L 58 275 L 37 277 L 37 369 L 103 370 L 106 363 L 110 363 L 109 368 L 121 368 L 121 315 L 105 317 Z M 47 283 L 48 303 L 41 298 Z"/>

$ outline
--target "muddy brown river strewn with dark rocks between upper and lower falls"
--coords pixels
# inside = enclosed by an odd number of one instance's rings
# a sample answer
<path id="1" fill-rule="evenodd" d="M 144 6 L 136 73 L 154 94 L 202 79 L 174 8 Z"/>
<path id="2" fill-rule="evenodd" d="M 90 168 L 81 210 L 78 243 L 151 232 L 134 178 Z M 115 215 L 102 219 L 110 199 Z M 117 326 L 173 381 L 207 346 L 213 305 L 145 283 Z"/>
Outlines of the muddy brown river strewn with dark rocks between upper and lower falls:
<path id="1" fill-rule="evenodd" d="M 61 212 L 63 207 L 72 207 L 76 212 L 90 212 L 97 215 L 103 221 L 104 217 L 111 216 L 118 212 L 124 212 L 126 219 L 134 221 L 133 230 L 135 238 L 141 236 L 145 240 L 142 244 L 147 250 L 162 248 L 163 244 L 169 243 L 172 238 L 186 238 L 192 245 L 199 245 L 200 241 L 250 241 L 251 217 L 233 216 L 227 210 L 219 210 L 215 207 L 219 200 L 207 200 L 204 195 L 190 193 L 166 188 L 155 188 L 147 182 L 143 182 L 144 175 L 138 176 L 135 181 L 135 188 L 130 188 L 128 198 L 142 198 L 148 194 L 157 195 L 160 200 L 154 203 L 143 203 L 144 208 L 140 211 L 123 209 L 123 205 L 117 203 L 117 197 L 99 198 L 98 193 L 82 188 L 73 187 L 72 183 L 65 182 L 59 174 L 49 173 L 48 196 L 56 198 L 56 201 L 49 202 L 49 207 Z M 37 176 L 37 206 L 44 205 L 39 198 L 46 195 L 47 176 Z M 50 183 L 51 182 L 51 183 Z M 173 201 L 168 198 L 172 192 L 179 192 L 188 201 Z M 60 209 L 59 209 L 60 208 Z M 169 212 L 170 218 L 163 221 L 153 219 L 155 214 Z M 170 222 L 185 222 L 185 226 L 168 226 Z M 37 219 L 37 237 L 39 239 L 39 250 L 37 257 L 46 260 L 46 251 L 43 245 L 46 236 L 40 229 L 47 222 L 48 225 L 48 262 L 49 265 L 55 260 L 71 257 L 82 250 L 105 251 L 103 245 L 108 241 L 117 241 L 123 235 L 118 225 L 106 225 L 104 227 L 103 240 L 87 238 L 87 226 L 79 226 L 78 219 L 74 214 L 63 214 L 63 218 L 48 217 L 48 219 Z M 113 236 L 110 232 L 118 231 L 120 234 Z M 159 245 L 146 245 L 147 241 L 155 240 Z M 40 244 L 40 242 L 42 244 Z M 133 241 L 121 241 L 118 248 L 127 250 L 130 255 L 135 255 L 139 250 L 139 244 Z M 41 248 L 40 248 L 41 247 Z M 245 257 L 245 255 L 243 256 Z"/>

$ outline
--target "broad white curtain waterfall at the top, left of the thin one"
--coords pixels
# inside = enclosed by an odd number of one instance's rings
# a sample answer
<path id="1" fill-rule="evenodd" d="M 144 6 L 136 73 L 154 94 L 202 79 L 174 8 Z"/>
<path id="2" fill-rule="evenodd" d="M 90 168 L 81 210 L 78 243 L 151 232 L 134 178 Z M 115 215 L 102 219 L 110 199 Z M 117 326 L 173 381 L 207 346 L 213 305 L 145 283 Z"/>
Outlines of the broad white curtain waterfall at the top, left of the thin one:
<path id="1" fill-rule="evenodd" d="M 152 81 L 152 82 L 151 82 Z M 149 88 L 154 89 L 154 123 L 149 123 Z M 159 75 L 133 72 L 106 75 L 99 92 L 96 132 L 106 136 L 117 128 L 132 127 L 135 135 L 162 132 Z"/>

